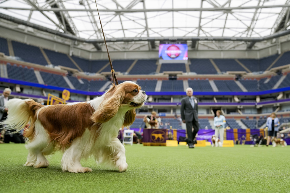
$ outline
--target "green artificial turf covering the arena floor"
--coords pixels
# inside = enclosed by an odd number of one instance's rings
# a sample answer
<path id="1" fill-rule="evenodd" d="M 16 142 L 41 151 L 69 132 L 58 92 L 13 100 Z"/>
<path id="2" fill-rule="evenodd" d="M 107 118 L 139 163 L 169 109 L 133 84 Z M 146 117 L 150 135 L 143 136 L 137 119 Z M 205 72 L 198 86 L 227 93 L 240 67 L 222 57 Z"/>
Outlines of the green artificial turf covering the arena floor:
<path id="1" fill-rule="evenodd" d="M 90 173 L 62 172 L 62 154 L 48 168 L 22 166 L 23 144 L 0 144 L 0 192 L 290 192 L 290 147 L 213 148 L 126 145 L 128 170 L 83 161 Z"/>

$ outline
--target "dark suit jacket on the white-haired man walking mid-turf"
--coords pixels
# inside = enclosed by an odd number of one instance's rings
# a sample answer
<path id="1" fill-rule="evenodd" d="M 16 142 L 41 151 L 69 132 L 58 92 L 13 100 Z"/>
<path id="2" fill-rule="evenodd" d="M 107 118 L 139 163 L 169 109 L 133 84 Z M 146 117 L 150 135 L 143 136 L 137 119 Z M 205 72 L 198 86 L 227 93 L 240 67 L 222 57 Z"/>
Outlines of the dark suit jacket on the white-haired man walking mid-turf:
<path id="1" fill-rule="evenodd" d="M 181 119 L 185 120 L 186 122 L 190 121 L 198 121 L 198 103 L 197 98 L 193 97 L 194 100 L 194 108 L 192 108 L 191 103 L 189 101 L 189 97 L 186 96 L 181 100 Z"/>

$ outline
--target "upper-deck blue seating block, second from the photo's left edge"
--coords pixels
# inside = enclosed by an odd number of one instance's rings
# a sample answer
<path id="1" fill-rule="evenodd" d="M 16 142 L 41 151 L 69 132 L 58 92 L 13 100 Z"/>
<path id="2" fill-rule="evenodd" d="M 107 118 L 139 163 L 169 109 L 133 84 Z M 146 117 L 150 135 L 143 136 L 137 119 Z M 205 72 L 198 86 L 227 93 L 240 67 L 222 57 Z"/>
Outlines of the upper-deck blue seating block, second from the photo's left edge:
<path id="1" fill-rule="evenodd" d="M 34 64 L 47 65 L 47 62 L 38 47 L 15 41 L 12 41 L 12 46 L 14 55 L 20 57 L 22 60 Z"/>

